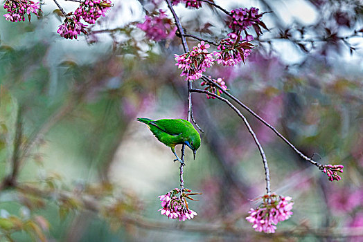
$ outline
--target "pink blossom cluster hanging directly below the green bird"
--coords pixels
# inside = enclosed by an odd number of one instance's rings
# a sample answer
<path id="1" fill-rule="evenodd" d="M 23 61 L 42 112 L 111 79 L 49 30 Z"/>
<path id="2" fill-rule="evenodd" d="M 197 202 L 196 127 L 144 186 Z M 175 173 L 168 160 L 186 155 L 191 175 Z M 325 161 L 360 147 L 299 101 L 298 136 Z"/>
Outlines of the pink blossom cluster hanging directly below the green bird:
<path id="1" fill-rule="evenodd" d="M 185 193 L 187 192 L 187 193 Z M 192 219 L 197 216 L 197 213 L 188 208 L 188 202 L 186 198 L 194 200 L 191 195 L 197 195 L 200 193 L 191 193 L 190 189 L 183 189 L 183 194 L 178 195 L 180 189 L 172 189 L 165 195 L 159 196 L 161 201 L 161 209 L 159 210 L 162 215 L 168 216 L 168 218 L 179 219 L 179 221 L 186 221 L 186 219 Z"/>

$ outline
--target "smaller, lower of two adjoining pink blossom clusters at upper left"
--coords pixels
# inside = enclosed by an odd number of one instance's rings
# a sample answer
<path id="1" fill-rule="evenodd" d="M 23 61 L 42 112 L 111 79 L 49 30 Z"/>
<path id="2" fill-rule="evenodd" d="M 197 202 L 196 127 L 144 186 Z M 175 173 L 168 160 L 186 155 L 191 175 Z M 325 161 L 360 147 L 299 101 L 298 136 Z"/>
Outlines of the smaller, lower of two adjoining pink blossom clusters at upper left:
<path id="1" fill-rule="evenodd" d="M 83 32 L 87 35 L 87 25 L 82 24 L 76 16 L 66 17 L 63 24 L 59 26 L 57 33 L 66 39 L 77 39 L 77 35 Z"/>

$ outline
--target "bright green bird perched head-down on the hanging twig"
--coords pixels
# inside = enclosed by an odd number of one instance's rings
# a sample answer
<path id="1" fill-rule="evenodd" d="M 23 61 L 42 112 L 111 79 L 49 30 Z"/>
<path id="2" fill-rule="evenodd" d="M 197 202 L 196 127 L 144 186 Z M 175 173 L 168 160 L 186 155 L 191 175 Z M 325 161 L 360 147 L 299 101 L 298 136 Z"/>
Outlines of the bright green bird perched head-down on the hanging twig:
<path id="1" fill-rule="evenodd" d="M 195 159 L 195 153 L 200 147 L 200 134 L 195 130 L 191 122 L 180 118 L 163 120 L 137 118 L 136 120 L 147 124 L 150 131 L 154 133 L 154 136 L 160 142 L 171 148 L 172 153 L 177 157 L 175 160 L 179 160 L 179 162 L 184 164 L 183 160 L 175 153 L 175 145 L 186 145 L 191 148 Z"/>

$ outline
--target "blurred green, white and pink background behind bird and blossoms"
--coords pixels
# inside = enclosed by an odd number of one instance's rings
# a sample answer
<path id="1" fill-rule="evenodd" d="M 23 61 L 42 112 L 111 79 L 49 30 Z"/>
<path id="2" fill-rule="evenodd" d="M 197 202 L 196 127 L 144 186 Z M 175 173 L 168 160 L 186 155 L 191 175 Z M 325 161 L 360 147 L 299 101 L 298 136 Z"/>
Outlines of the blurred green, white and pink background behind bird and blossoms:
<path id="1" fill-rule="evenodd" d="M 157 196 L 179 187 L 179 164 L 135 119 L 186 118 L 187 86 L 174 60 L 183 50 L 178 37 L 150 41 L 135 24 L 166 4 L 115 1 L 89 37 L 69 40 L 57 35 L 62 19 L 45 2 L 31 23 L 0 20 L 1 241 L 363 240 L 362 1 L 215 3 L 272 12 L 245 65 L 207 74 L 223 77 L 306 156 L 344 165 L 342 180 L 328 181 L 242 111 L 265 149 L 272 191 L 294 200 L 276 234 L 255 232 L 245 217 L 265 194 L 265 171 L 254 140 L 227 105 L 193 93 L 204 133 L 195 160 L 186 150 L 184 181 L 202 192 L 189 203 L 198 215 L 161 216 Z M 228 33 L 211 6 L 175 10 L 188 33 L 212 41 Z"/>

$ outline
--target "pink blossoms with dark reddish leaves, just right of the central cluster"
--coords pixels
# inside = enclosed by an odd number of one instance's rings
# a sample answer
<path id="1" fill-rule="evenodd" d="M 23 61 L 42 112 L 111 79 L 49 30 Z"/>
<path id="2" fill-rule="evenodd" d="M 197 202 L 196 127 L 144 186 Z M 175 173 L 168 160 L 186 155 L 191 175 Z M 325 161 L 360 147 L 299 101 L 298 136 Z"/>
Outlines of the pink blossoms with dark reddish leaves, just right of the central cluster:
<path id="1" fill-rule="evenodd" d="M 251 49 L 254 45 L 249 43 L 253 39 L 251 35 L 247 35 L 245 39 L 240 39 L 239 35 L 230 33 L 229 38 L 222 39 L 217 47 L 219 52 L 215 52 L 214 56 L 218 64 L 223 66 L 234 66 L 240 62 L 245 63 L 245 58 L 251 55 Z"/>

